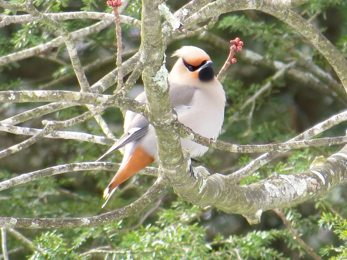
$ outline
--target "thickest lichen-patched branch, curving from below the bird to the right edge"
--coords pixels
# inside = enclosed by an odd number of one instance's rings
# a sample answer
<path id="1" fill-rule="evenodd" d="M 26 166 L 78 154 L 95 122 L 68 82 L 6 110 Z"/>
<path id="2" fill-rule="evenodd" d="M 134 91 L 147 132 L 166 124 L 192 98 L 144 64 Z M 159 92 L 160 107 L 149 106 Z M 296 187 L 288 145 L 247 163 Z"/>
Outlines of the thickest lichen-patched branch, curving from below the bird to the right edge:
<path id="1" fill-rule="evenodd" d="M 347 147 L 329 158 L 314 162 L 310 170 L 294 175 L 272 175 L 258 183 L 239 186 L 222 174 L 205 176 L 187 189 L 175 191 L 195 205 L 212 205 L 227 213 L 243 214 L 249 223 L 260 222 L 263 211 L 296 205 L 311 198 L 321 198 L 338 184 L 347 181 Z M 190 186 L 190 188 L 189 188 Z M 189 189 L 188 189 L 189 188 Z M 250 199 L 252 198 L 252 199 Z"/>

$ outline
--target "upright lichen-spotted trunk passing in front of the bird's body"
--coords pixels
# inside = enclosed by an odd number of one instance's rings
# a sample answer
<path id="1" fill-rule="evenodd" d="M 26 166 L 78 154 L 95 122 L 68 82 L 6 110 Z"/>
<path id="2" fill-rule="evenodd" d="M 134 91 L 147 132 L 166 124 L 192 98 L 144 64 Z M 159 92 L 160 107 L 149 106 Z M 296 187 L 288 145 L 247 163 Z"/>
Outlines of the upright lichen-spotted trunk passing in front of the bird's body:
<path id="1" fill-rule="evenodd" d="M 142 1 L 142 26 L 140 61 L 143 63 L 142 79 L 149 103 L 149 122 L 154 126 L 159 162 L 170 183 L 184 181 L 187 160 L 184 159 L 178 132 L 171 127 L 175 120 L 169 101 L 168 71 L 165 66 L 164 52 L 166 43 L 161 27 L 159 6 L 161 0 Z M 179 174 L 178 174 L 179 173 Z"/>

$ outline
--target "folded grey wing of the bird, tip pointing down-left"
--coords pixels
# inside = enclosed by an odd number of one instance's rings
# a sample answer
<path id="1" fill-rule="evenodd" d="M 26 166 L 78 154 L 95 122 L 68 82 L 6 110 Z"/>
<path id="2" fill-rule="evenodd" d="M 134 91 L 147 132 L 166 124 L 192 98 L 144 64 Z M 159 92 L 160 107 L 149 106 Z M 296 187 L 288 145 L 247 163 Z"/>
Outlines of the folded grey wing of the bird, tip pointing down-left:
<path id="1" fill-rule="evenodd" d="M 117 150 L 133 141 L 136 141 L 143 137 L 148 132 L 148 122 L 147 119 L 140 114 L 136 114 L 132 122 L 129 124 L 129 130 L 122 135 L 117 142 L 110 149 L 107 150 L 99 159 L 95 162 L 100 161 L 106 155 L 112 153 L 112 151 Z"/>

